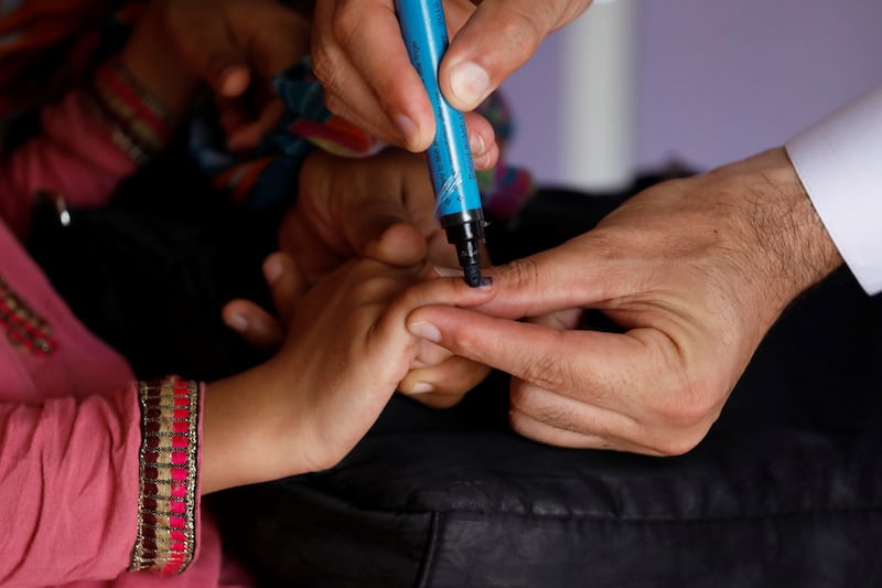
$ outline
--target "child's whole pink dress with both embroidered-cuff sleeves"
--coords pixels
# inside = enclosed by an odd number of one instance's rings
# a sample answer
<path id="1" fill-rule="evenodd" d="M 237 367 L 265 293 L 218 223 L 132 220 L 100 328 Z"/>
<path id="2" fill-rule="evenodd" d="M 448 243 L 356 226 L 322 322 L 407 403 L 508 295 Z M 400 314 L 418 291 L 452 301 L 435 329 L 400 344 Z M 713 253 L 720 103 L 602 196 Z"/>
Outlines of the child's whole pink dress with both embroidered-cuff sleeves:
<path id="1" fill-rule="evenodd" d="M 135 382 L 20 244 L 34 190 L 99 205 L 135 170 L 110 135 L 72 93 L 0 163 L 0 586 L 249 586 L 201 513 L 202 386 Z"/>

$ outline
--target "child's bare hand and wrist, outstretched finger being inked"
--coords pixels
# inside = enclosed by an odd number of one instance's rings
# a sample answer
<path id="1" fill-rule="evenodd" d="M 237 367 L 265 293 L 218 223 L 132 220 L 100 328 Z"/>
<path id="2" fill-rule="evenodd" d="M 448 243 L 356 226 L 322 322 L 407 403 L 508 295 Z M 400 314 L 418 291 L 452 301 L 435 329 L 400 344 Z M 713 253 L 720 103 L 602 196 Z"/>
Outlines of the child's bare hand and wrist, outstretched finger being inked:
<path id="1" fill-rule="evenodd" d="M 294 309 L 281 351 L 205 397 L 202 491 L 336 464 L 375 423 L 419 353 L 405 319 L 416 306 L 482 303 L 486 288 L 450 285 L 407 296 L 421 266 L 352 260 Z M 472 290 L 472 291 L 463 291 Z M 424 290 L 420 290 L 424 291 Z"/>

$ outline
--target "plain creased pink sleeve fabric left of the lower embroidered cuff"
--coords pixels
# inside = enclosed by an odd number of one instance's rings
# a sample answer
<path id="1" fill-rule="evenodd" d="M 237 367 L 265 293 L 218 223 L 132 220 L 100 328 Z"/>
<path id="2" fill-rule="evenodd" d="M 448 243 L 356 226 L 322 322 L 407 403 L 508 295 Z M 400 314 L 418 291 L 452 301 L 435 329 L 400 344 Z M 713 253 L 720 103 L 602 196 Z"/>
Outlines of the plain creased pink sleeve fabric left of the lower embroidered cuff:
<path id="1" fill-rule="evenodd" d="M 76 570 L 103 579 L 125 571 L 139 496 L 135 388 L 0 404 L 0 582 L 49 586 L 86 577 Z"/>

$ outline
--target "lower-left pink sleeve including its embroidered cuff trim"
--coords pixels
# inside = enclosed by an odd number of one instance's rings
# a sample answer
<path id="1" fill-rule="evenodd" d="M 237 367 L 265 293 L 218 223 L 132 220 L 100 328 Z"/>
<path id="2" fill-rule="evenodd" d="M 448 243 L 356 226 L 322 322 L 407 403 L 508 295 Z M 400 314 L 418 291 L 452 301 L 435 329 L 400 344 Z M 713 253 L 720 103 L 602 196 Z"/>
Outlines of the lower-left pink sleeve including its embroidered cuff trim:
<path id="1" fill-rule="evenodd" d="M 186 568 L 198 524 L 200 386 L 0 404 L 0 585 Z"/>

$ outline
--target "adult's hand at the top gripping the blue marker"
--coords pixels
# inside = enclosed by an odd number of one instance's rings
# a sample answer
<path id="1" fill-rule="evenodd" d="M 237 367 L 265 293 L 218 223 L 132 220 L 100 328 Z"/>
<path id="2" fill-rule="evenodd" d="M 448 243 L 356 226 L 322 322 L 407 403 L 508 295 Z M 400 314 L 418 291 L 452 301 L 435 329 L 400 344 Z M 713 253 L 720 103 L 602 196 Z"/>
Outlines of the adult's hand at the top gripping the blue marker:
<path id="1" fill-rule="evenodd" d="M 451 43 L 441 61 L 439 83 L 450 104 L 467 113 L 591 0 L 444 0 L 443 4 Z M 429 147 L 434 117 L 410 64 L 394 0 L 316 0 L 312 60 L 332 111 L 389 143 L 411 151 Z M 475 142 L 477 118 L 467 117 Z"/>

